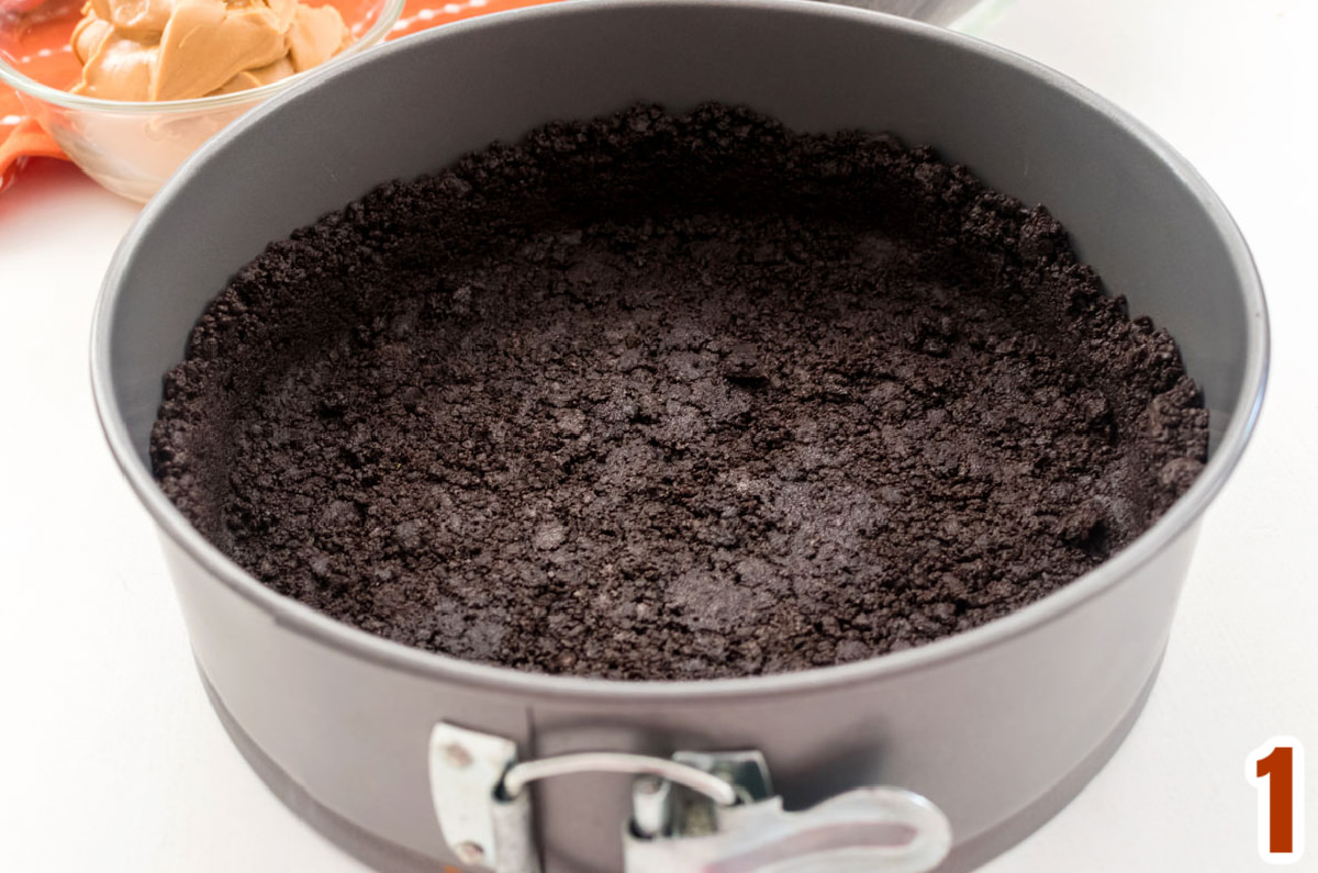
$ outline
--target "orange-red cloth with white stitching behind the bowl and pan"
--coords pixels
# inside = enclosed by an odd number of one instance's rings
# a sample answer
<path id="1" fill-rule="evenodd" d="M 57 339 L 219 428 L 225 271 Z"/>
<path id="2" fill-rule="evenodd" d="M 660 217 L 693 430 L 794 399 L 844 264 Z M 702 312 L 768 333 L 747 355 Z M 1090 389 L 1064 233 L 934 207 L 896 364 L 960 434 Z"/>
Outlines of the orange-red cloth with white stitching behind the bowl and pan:
<path id="1" fill-rule="evenodd" d="M 0 0 L 0 16 L 17 12 L 17 4 L 21 0 Z M 403 7 L 403 13 L 394 25 L 394 29 L 389 33 L 386 40 L 397 40 L 398 37 L 407 36 L 409 33 L 416 33 L 427 28 L 434 28 L 440 24 L 448 24 L 449 21 L 457 21 L 460 18 L 471 18 L 472 16 L 485 15 L 488 12 L 502 12 L 505 9 L 515 9 L 518 7 L 534 7 L 543 3 L 552 3 L 554 0 L 459 0 L 456 3 L 438 3 L 436 0 L 407 0 L 407 5 Z M 12 15 L 12 13 L 11 13 Z M 37 13 L 40 15 L 40 13 Z M 40 34 L 34 34 L 36 38 L 29 38 L 24 42 L 25 47 L 29 50 L 32 57 L 32 63 L 41 63 L 38 55 L 42 50 L 46 50 L 42 58 L 47 58 L 51 62 L 59 62 L 59 55 L 66 54 L 66 47 L 63 45 L 43 45 Z M 61 37 L 62 42 L 63 37 Z M 47 42 L 50 40 L 46 40 Z M 63 63 L 72 62 L 71 58 L 63 61 Z M 75 62 L 74 62 L 75 63 Z M 22 173 L 24 165 L 28 158 L 41 157 L 41 158 L 63 158 L 65 153 L 59 150 L 54 140 L 46 136 L 41 127 L 26 116 L 22 103 L 18 100 L 18 95 L 11 88 L 0 86 L 0 191 L 8 187 L 13 181 Z"/>

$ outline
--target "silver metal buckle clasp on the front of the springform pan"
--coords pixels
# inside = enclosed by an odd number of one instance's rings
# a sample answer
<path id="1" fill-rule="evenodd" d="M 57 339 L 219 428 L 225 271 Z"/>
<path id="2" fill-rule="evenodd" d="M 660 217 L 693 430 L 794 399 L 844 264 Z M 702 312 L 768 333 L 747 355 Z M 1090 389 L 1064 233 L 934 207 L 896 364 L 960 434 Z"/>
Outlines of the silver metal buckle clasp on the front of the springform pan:
<path id="1" fill-rule="evenodd" d="M 787 811 L 754 750 L 519 762 L 503 737 L 447 723 L 431 733 L 435 812 L 465 865 L 540 873 L 527 786 L 571 773 L 633 777 L 625 873 L 929 873 L 952 849 L 948 818 L 904 789 L 859 787 Z"/>

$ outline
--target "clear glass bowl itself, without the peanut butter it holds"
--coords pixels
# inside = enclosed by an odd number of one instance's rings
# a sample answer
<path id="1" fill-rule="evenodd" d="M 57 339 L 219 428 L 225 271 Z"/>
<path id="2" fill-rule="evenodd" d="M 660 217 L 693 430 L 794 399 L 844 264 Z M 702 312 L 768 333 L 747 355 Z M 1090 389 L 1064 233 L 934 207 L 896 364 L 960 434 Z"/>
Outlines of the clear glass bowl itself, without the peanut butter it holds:
<path id="1" fill-rule="evenodd" d="M 405 0 L 327 0 L 343 15 L 352 44 L 327 63 L 368 49 L 389 33 Z M 322 5 L 311 0 L 308 5 Z M 80 66 L 67 50 L 82 0 L 50 0 L 29 12 L 0 7 L 0 82 L 87 175 L 133 200 L 146 200 L 196 146 L 298 74 L 260 88 L 194 100 L 130 103 L 69 94 Z M 36 46 L 45 47 L 36 47 Z M 61 47 L 49 47 L 61 46 Z"/>

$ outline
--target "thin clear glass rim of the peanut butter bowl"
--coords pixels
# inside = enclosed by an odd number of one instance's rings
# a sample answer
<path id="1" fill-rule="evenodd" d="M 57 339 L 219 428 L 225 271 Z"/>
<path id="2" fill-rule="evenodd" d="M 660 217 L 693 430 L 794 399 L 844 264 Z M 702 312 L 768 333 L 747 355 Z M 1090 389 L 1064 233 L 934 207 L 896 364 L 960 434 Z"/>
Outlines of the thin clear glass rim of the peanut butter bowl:
<path id="1" fill-rule="evenodd" d="M 3 54 L 0 54 L 0 82 L 12 87 L 20 95 L 36 98 L 65 109 L 119 112 L 123 115 L 181 115 L 206 112 L 210 109 L 224 109 L 274 96 L 275 94 L 289 88 L 291 84 L 301 82 L 307 73 L 323 70 L 332 63 L 339 63 L 340 61 L 347 61 L 353 55 L 361 54 L 366 49 L 382 41 L 385 36 L 393 30 L 398 18 L 403 13 L 403 7 L 406 4 L 407 0 L 381 0 L 380 15 L 376 18 L 376 22 L 370 25 L 365 33 L 349 42 L 339 54 L 328 58 L 323 63 L 303 70 L 302 73 L 295 73 L 286 79 L 278 79 L 275 82 L 270 82 L 269 84 L 246 88 L 245 91 L 235 91 L 232 94 L 190 98 L 187 100 L 109 100 L 107 98 L 91 98 L 82 94 L 70 94 L 69 91 L 62 91 L 54 86 L 37 82 L 32 76 L 20 73 L 16 67 L 13 67 L 13 65 L 11 65 Z"/>

